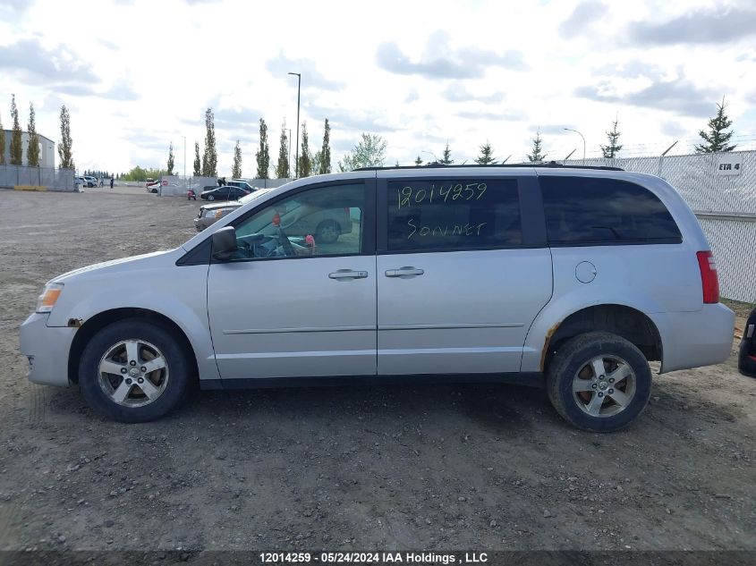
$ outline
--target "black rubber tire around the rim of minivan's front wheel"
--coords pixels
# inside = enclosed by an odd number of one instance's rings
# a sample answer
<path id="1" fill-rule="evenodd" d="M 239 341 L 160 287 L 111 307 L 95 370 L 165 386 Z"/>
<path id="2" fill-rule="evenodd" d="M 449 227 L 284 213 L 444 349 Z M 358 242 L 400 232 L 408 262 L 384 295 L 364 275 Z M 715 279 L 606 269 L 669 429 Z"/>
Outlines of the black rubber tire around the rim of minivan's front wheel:
<path id="1" fill-rule="evenodd" d="M 139 407 L 118 404 L 100 384 L 100 360 L 118 342 L 140 340 L 156 346 L 166 359 L 166 385 L 155 401 Z M 163 417 L 177 407 L 194 382 L 194 366 L 190 354 L 162 325 L 129 318 L 107 325 L 95 334 L 81 354 L 79 385 L 85 401 L 93 410 L 123 423 L 142 423 Z M 132 390 L 134 391 L 134 390 Z M 136 390 L 139 394 L 140 390 Z"/>

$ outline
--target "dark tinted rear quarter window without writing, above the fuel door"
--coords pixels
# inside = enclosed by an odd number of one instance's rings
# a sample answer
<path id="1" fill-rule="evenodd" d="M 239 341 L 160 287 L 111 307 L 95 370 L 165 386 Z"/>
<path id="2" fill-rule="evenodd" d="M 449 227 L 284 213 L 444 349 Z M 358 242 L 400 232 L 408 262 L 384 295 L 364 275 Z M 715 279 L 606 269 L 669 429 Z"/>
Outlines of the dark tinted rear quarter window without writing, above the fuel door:
<path id="1" fill-rule="evenodd" d="M 539 177 L 548 243 L 602 245 L 680 243 L 667 207 L 632 182 L 586 177 Z"/>

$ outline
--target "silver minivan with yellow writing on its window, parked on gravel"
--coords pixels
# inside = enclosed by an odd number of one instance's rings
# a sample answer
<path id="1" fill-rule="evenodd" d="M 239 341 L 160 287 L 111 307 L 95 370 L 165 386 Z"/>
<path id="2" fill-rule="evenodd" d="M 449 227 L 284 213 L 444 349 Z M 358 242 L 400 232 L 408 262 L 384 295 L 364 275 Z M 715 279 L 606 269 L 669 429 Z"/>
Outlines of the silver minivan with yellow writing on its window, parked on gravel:
<path id="1" fill-rule="evenodd" d="M 300 207 L 348 211 L 351 230 L 289 234 Z M 658 177 L 394 167 L 290 182 L 180 248 L 55 277 L 21 352 L 32 382 L 78 384 L 124 422 L 194 383 L 430 376 L 544 386 L 568 422 L 611 431 L 646 406 L 650 360 L 721 362 L 734 324 L 701 227 Z"/>

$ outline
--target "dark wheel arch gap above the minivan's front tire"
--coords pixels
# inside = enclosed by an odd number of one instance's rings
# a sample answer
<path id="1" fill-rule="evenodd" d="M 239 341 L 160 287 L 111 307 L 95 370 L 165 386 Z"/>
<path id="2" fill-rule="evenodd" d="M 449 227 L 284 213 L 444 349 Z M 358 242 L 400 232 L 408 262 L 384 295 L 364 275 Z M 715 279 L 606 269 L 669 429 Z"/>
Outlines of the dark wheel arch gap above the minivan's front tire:
<path id="1" fill-rule="evenodd" d="M 74 335 L 68 354 L 68 380 L 70 383 L 79 383 L 79 360 L 89 340 L 107 325 L 129 318 L 148 320 L 166 328 L 179 342 L 187 357 L 191 359 L 190 365 L 194 371 L 194 378 L 196 379 L 199 376 L 196 352 L 191 346 L 189 337 L 173 320 L 149 308 L 111 308 L 89 318 Z"/>

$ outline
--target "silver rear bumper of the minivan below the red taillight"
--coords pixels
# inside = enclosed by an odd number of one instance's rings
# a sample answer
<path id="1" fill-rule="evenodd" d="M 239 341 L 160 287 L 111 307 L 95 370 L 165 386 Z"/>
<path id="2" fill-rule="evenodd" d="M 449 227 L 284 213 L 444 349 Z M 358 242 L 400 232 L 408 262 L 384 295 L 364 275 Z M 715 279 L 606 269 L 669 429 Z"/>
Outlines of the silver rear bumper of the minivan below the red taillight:
<path id="1" fill-rule="evenodd" d="M 703 305 L 695 312 L 649 315 L 662 342 L 659 373 L 711 366 L 730 357 L 735 332 L 735 313 L 725 305 Z"/>

